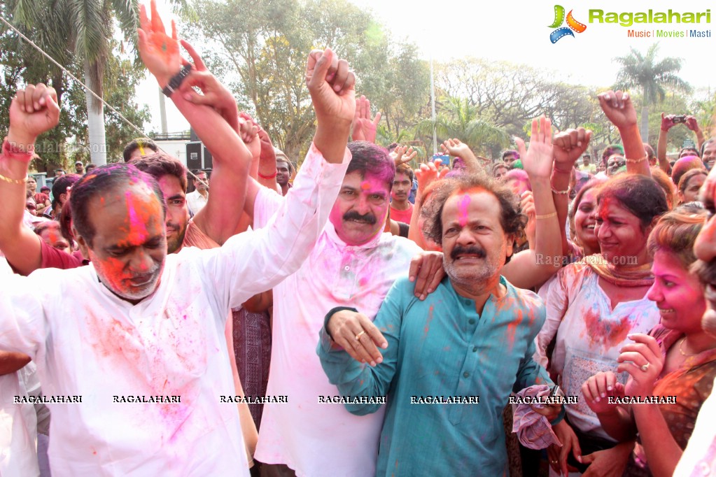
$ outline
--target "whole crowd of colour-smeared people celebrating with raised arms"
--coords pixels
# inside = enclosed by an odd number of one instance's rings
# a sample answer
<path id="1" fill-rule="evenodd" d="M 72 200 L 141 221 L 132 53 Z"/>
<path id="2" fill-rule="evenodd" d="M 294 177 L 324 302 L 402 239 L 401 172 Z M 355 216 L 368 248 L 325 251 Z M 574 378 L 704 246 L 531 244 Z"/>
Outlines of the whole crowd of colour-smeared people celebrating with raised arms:
<path id="1" fill-rule="evenodd" d="M 716 475 L 716 138 L 695 119 L 663 116 L 654 152 L 608 91 L 621 142 L 596 164 L 589 130 L 540 117 L 495 161 L 446 139 L 449 164 L 412 169 L 314 50 L 296 171 L 174 27 L 140 20 L 213 170 L 187 192 L 136 139 L 37 192 L 57 94 L 17 92 L 1 476 Z M 679 123 L 696 145 L 669 162 Z"/>

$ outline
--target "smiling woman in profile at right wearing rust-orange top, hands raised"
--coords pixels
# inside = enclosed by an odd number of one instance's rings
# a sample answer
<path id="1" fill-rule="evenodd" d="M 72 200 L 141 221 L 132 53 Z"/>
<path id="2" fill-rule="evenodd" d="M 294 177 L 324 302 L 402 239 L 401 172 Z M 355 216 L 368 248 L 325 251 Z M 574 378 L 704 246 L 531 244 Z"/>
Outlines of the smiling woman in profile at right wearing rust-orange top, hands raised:
<path id="1" fill-rule="evenodd" d="M 625 476 L 672 476 L 712 392 L 716 337 L 701 328 L 704 287 L 690 273 L 694 241 L 706 220 L 707 212 L 697 205 L 679 207 L 659 220 L 648 242 L 654 285 L 647 297 L 657 304 L 661 323 L 649 335 L 632 335 L 634 343 L 621 350 L 617 371 L 629 373 L 626 386 L 612 371 L 597 373 L 582 386 L 586 403 L 610 436 L 630 441 L 639 434 Z M 624 395 L 677 398 L 658 405 L 609 403 L 609 397 Z"/>

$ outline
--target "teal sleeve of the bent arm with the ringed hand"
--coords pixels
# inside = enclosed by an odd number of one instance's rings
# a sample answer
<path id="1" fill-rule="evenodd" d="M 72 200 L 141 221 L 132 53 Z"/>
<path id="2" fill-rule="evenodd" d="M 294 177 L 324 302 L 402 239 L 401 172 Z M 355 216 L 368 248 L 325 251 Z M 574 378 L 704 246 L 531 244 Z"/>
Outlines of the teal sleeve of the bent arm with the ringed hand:
<path id="1" fill-rule="evenodd" d="M 336 349 L 333 340 L 326 332 L 326 327 L 319 332 L 319 344 L 316 348 L 321 359 L 321 366 L 328 380 L 337 385 L 339 393 L 344 396 L 383 397 L 390 389 L 390 383 L 397 370 L 398 350 L 400 345 L 400 327 L 405 310 L 405 300 L 412 299 L 410 283 L 396 282 L 380 305 L 380 310 L 373 324 L 377 326 L 387 341 L 387 347 L 381 350 L 382 362 L 376 366 L 359 363 L 342 349 Z M 377 403 L 345 404 L 349 413 L 365 415 L 374 413 L 380 407 Z"/>

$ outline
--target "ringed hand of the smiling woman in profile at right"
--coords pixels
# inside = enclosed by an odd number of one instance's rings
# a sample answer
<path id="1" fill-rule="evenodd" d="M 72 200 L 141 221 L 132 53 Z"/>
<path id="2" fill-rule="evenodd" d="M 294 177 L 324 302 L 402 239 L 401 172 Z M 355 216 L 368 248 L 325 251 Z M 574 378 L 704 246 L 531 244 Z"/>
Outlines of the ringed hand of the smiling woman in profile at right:
<path id="1" fill-rule="evenodd" d="M 664 368 L 664 357 L 654 337 L 644 333 L 634 333 L 628 338 L 634 343 L 624 345 L 616 361 L 618 373 L 627 371 L 629 380 L 624 388 L 626 395 L 651 396 L 654 393 L 654 382 Z"/>

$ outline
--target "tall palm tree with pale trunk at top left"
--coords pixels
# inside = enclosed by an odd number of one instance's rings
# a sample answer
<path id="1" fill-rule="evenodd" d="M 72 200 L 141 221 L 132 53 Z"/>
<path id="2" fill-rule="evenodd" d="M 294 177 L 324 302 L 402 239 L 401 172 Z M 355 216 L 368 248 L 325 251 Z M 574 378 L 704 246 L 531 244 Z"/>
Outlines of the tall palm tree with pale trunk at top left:
<path id="1" fill-rule="evenodd" d="M 139 8 L 137 0 L 38 0 L 7 2 L 14 22 L 35 32 L 42 49 L 72 52 L 84 66 L 84 84 L 102 97 L 102 79 L 111 54 L 115 20 L 125 40 L 136 44 Z M 185 0 L 173 1 L 190 12 Z M 61 62 L 65 66 L 67 63 Z M 87 134 L 92 163 L 107 163 L 105 109 L 102 102 L 87 92 Z"/>

